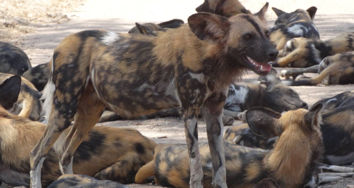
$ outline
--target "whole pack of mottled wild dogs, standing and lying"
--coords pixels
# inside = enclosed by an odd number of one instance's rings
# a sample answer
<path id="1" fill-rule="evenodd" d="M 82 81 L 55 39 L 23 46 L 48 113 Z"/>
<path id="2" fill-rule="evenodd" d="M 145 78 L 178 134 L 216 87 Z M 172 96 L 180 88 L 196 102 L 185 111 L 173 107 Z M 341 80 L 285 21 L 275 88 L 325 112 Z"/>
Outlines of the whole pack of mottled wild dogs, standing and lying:
<path id="1" fill-rule="evenodd" d="M 354 91 L 309 108 L 289 85 L 354 83 L 354 32 L 322 41 L 316 7 L 273 7 L 278 18 L 268 28 L 267 9 L 253 14 L 238 0 L 205 0 L 188 23 L 69 35 L 35 67 L 21 49 L 0 42 L 0 181 L 316 188 L 353 178 Z M 298 68 L 278 73 L 272 66 Z M 258 80 L 236 84 L 245 71 Z M 95 126 L 162 116 L 182 118 L 187 144 Z M 198 142 L 199 117 L 208 143 Z M 224 134 L 235 119 L 245 124 Z"/>

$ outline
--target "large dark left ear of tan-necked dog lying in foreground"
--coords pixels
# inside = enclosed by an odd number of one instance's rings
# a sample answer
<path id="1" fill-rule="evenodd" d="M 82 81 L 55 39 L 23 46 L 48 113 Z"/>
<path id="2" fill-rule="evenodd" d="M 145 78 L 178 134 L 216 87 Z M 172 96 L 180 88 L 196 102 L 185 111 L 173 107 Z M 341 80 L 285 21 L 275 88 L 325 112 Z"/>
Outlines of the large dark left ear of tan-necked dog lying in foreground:
<path id="1" fill-rule="evenodd" d="M 247 123 L 251 130 L 264 138 L 280 136 L 281 127 L 278 125 L 280 114 L 262 107 L 250 108 L 246 112 Z"/>

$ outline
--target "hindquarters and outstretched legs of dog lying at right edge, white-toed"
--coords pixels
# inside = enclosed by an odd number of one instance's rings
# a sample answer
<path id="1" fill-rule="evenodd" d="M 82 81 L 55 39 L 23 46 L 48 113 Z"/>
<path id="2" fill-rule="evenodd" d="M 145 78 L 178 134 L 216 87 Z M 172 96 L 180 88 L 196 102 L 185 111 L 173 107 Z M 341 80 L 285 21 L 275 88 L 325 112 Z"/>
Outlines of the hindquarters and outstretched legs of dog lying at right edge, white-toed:
<path id="1" fill-rule="evenodd" d="M 300 77 L 298 74 L 314 72 L 318 70 L 319 75 L 309 78 Z M 286 85 L 332 85 L 332 84 L 353 84 L 354 83 L 354 51 L 325 57 L 319 66 L 313 66 L 301 70 L 283 70 L 281 77 L 296 79 L 287 79 L 282 82 Z"/>

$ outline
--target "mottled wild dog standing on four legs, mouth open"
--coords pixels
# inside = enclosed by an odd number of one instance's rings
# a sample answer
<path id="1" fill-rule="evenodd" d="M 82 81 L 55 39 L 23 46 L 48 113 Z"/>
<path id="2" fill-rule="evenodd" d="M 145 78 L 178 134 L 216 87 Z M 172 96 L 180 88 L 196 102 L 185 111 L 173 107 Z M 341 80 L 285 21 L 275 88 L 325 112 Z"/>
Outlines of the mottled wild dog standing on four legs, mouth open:
<path id="1" fill-rule="evenodd" d="M 266 75 L 276 59 L 264 22 L 268 3 L 256 14 L 231 18 L 197 13 L 158 36 L 103 30 L 70 35 L 55 48 L 46 88 L 48 125 L 31 151 L 31 186 L 51 146 L 63 174 L 73 173 L 73 154 L 105 106 L 121 116 L 140 116 L 181 106 L 190 157 L 190 185 L 202 187 L 197 118 L 206 121 L 213 185 L 225 188 L 223 106 L 228 87 L 242 71 Z M 75 118 L 74 118 L 75 116 Z M 61 134 L 74 119 L 70 133 Z M 62 141 L 63 140 L 63 141 Z"/>

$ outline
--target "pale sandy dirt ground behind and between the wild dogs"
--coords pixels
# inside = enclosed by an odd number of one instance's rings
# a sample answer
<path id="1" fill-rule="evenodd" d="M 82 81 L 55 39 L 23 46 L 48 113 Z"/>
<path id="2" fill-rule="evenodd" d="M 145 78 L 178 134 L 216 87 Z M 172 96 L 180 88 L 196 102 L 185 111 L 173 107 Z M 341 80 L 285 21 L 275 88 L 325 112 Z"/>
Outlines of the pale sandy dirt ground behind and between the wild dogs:
<path id="1" fill-rule="evenodd" d="M 135 22 L 159 23 L 173 18 L 183 19 L 185 22 L 189 15 L 195 13 L 194 9 L 202 3 L 202 0 L 82 0 L 75 1 L 75 7 L 70 7 L 72 12 L 65 13 L 70 20 L 58 24 L 39 23 L 35 25 L 35 31 L 24 36 L 20 33 L 21 42 L 18 44 L 31 58 L 33 66 L 48 62 L 51 59 L 53 49 L 67 35 L 87 29 L 105 29 L 114 32 L 127 32 Z M 329 39 L 343 32 L 354 30 L 354 3 L 352 0 L 268 0 L 270 7 L 276 7 L 286 12 L 297 8 L 307 9 L 316 6 L 318 12 L 315 17 L 322 39 Z M 257 12 L 265 1 L 242 0 L 241 3 L 251 12 Z M 275 14 L 268 11 L 269 26 L 275 21 Z M 22 37 L 23 36 L 23 37 Z M 12 41 L 13 43 L 16 42 Z M 281 70 L 281 68 L 277 68 Z M 309 74 L 314 75 L 314 74 Z M 251 82 L 257 78 L 254 73 L 245 74 L 242 81 Z M 309 105 L 322 98 L 330 97 L 343 91 L 354 90 L 354 85 L 331 86 L 300 86 L 292 87 L 300 97 Z M 240 122 L 235 121 L 234 125 Z M 97 126 L 133 127 L 143 135 L 152 138 L 157 143 L 184 143 L 183 123 L 179 118 L 158 118 L 153 120 L 129 120 L 99 123 Z M 202 120 L 198 121 L 199 141 L 206 142 L 206 128 Z M 228 127 L 224 127 L 226 130 Z M 158 137 L 167 138 L 158 139 Z M 322 185 L 322 188 L 343 188 L 354 185 L 353 179 L 338 181 Z M 149 188 L 156 187 L 151 184 L 131 187 Z M 0 186 L 1 187 L 1 186 Z"/>

